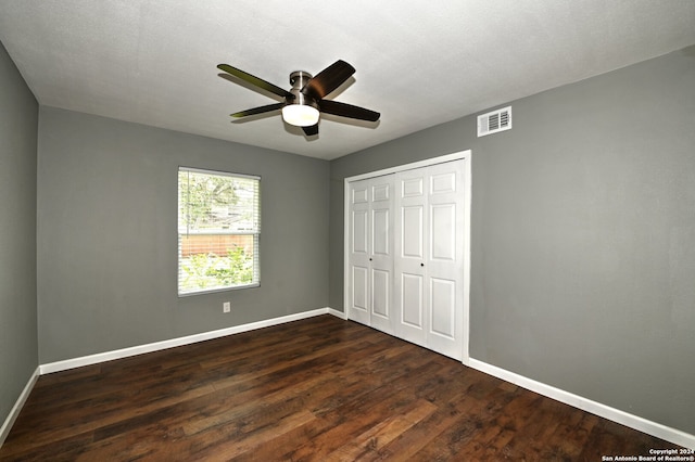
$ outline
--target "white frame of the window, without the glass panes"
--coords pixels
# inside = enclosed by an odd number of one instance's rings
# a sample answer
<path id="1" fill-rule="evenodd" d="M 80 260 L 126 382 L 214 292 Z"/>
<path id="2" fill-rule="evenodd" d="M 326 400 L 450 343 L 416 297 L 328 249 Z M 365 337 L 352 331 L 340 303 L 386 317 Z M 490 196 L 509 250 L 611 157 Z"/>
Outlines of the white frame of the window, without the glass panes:
<path id="1" fill-rule="evenodd" d="M 245 226 L 245 229 L 203 229 L 195 230 L 190 227 L 190 219 L 186 211 L 184 211 L 186 205 L 189 204 L 187 198 L 182 197 L 181 194 L 181 174 L 186 172 L 189 175 L 206 175 L 212 177 L 224 178 L 228 177 L 230 179 L 238 180 L 254 180 L 256 183 L 254 184 L 254 195 L 253 195 L 253 218 L 251 219 L 251 223 Z M 261 285 L 261 177 L 254 175 L 244 175 L 244 174 L 233 174 L 227 171 L 219 170 L 207 170 L 201 168 L 191 168 L 179 166 L 177 170 L 177 233 L 178 233 L 178 249 L 177 249 L 177 292 L 179 297 L 191 296 L 191 295 L 200 295 L 200 294 L 208 294 L 214 292 L 225 292 L 225 291 L 235 291 L 240 288 L 250 288 L 257 287 Z M 230 206 L 233 207 L 233 206 Z M 186 207 L 186 209 L 190 209 L 190 207 Z M 198 288 L 182 287 L 184 281 L 184 268 L 186 264 L 190 265 L 190 261 L 187 261 L 182 254 L 182 241 L 184 238 L 188 238 L 191 235 L 202 236 L 202 235 L 217 235 L 217 236 L 231 236 L 231 235 L 252 235 L 253 236 L 253 269 L 252 269 L 252 281 L 249 283 L 229 283 L 224 285 L 214 285 L 214 286 L 199 286 Z M 224 268 L 224 267 L 223 267 Z"/>

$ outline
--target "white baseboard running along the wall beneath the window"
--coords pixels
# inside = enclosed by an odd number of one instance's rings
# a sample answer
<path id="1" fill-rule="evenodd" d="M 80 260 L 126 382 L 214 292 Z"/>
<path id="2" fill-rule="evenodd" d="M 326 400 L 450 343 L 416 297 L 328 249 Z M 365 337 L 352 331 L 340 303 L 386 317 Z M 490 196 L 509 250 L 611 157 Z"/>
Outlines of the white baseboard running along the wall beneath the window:
<path id="1" fill-rule="evenodd" d="M 249 324 L 235 325 L 231 328 L 220 329 L 217 331 L 203 332 L 201 334 L 188 335 L 185 337 L 172 338 L 168 341 L 155 342 L 135 347 L 117 349 L 113 351 L 99 352 L 96 355 L 83 356 L 80 358 L 66 359 L 64 361 L 49 362 L 39 365 L 41 375 L 51 372 L 66 371 L 68 369 L 80 368 L 83 365 L 98 364 L 100 362 L 111 361 L 114 359 L 128 358 L 131 356 L 142 355 L 146 352 L 159 351 L 166 348 L 173 348 L 182 345 L 190 345 L 198 342 L 219 338 L 227 335 L 239 334 L 241 332 L 254 331 L 256 329 L 269 328 L 271 325 L 283 324 L 286 322 L 299 321 L 301 319 L 313 318 L 320 315 L 333 315 L 342 318 L 342 312 L 332 308 L 319 308 L 312 311 L 288 315 L 280 318 L 266 319 L 263 321 L 252 322 Z"/>

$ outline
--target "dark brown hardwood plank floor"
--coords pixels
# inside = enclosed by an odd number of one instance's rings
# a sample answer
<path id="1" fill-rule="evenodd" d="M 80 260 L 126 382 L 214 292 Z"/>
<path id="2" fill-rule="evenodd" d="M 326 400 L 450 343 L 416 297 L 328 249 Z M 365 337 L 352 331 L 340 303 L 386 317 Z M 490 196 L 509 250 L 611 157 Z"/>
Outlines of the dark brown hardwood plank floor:
<path id="1" fill-rule="evenodd" d="M 601 461 L 666 448 L 321 316 L 43 375 L 0 460 Z"/>

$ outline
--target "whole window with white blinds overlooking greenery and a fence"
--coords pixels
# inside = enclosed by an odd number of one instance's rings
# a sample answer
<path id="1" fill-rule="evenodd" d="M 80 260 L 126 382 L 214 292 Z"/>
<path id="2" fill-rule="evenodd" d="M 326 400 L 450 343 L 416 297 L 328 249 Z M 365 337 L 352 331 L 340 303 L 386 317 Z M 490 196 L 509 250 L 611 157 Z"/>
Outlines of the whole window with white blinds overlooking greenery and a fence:
<path id="1" fill-rule="evenodd" d="M 261 283 L 261 178 L 178 170 L 178 294 Z"/>

